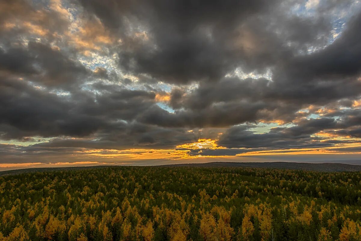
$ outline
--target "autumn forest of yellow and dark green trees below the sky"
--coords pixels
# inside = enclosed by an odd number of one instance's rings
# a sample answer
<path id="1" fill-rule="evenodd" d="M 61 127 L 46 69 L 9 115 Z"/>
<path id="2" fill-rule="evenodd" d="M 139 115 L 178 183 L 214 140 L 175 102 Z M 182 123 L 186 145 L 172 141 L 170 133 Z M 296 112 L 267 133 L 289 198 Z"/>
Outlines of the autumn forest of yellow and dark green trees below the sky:
<path id="1" fill-rule="evenodd" d="M 0 177 L 0 241 L 360 241 L 361 172 L 104 167 Z"/>

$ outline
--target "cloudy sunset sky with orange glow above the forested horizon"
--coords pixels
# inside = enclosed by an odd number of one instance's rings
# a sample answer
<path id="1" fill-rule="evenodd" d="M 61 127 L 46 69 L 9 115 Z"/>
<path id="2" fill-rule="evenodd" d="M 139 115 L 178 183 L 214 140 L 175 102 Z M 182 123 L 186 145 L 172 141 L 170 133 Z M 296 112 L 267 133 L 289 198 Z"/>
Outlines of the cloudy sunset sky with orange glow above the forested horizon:
<path id="1" fill-rule="evenodd" d="M 361 164 L 359 0 L 0 0 L 0 170 Z"/>

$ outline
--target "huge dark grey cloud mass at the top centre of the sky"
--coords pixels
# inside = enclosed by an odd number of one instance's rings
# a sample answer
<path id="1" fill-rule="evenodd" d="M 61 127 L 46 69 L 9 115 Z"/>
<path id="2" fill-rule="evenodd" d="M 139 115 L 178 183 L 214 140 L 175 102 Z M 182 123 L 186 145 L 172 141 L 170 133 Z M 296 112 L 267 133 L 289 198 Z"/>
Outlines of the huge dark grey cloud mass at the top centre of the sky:
<path id="1" fill-rule="evenodd" d="M 123 38 L 123 69 L 177 84 L 217 81 L 237 66 L 264 71 L 305 44 L 325 44 L 331 29 L 323 16 L 287 16 L 284 6 L 292 1 L 80 2 Z M 133 25 L 145 29 L 150 41 L 140 44 L 126 35 Z"/>

